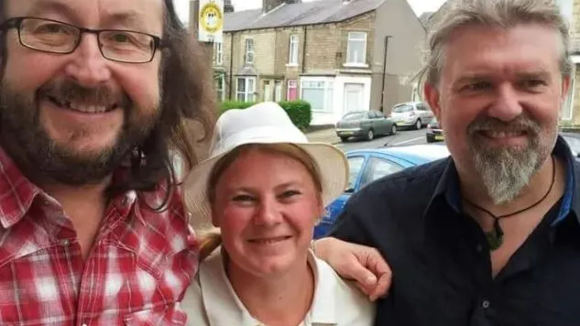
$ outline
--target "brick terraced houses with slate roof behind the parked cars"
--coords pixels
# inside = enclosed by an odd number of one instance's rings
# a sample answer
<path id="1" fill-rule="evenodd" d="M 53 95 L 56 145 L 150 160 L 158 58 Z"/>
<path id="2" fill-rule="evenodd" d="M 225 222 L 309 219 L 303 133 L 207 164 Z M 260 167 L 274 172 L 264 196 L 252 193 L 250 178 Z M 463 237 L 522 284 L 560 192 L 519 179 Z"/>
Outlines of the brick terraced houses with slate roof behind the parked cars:
<path id="1" fill-rule="evenodd" d="M 224 20 L 213 49 L 220 100 L 304 99 L 324 125 L 418 97 L 426 31 L 405 0 L 263 0 Z"/>

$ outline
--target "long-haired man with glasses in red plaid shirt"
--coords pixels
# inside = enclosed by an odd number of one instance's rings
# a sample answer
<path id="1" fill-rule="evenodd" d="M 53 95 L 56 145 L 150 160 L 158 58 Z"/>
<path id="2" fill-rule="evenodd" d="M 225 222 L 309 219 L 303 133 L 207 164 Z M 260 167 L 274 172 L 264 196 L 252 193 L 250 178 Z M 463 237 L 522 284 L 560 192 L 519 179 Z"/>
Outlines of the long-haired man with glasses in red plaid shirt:
<path id="1" fill-rule="evenodd" d="M 172 0 L 0 0 L 0 324 L 185 323 L 200 57 Z"/>

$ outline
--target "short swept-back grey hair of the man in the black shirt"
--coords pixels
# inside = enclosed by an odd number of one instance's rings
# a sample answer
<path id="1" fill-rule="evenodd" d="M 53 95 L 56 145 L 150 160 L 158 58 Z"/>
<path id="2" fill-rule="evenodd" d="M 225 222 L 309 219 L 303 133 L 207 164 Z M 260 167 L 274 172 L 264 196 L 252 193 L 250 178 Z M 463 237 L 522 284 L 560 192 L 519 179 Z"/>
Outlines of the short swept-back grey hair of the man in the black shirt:
<path id="1" fill-rule="evenodd" d="M 562 37 L 560 70 L 570 76 L 568 26 L 553 0 L 450 0 L 448 10 L 429 34 L 422 79 L 437 86 L 445 64 L 445 46 L 452 32 L 470 25 L 510 28 L 519 24 L 541 24 L 559 31 Z M 443 9 L 445 10 L 445 9 Z"/>

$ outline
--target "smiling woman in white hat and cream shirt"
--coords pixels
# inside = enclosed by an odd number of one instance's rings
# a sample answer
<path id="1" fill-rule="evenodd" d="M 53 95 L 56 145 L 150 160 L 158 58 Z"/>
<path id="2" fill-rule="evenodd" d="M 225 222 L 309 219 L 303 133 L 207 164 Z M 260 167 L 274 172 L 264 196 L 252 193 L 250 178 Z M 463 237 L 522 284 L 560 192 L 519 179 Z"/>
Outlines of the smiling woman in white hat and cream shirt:
<path id="1" fill-rule="evenodd" d="M 371 325 L 374 304 L 310 251 L 313 227 L 345 189 L 338 148 L 309 143 L 275 103 L 220 117 L 186 204 L 221 234 L 202 241 L 182 308 L 190 325 Z"/>

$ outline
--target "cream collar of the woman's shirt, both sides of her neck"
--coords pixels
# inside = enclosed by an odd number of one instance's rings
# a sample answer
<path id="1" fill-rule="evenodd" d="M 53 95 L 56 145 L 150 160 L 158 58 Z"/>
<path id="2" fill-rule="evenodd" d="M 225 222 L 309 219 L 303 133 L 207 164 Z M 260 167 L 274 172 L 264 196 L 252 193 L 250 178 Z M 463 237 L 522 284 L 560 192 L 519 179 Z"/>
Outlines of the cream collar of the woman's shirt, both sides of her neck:
<path id="1" fill-rule="evenodd" d="M 338 323 L 336 303 L 328 294 L 335 292 L 338 286 L 337 279 L 332 275 L 330 267 L 324 266 L 311 251 L 309 251 L 308 263 L 313 270 L 316 287 L 305 324 L 335 325 Z M 235 294 L 224 268 L 223 249 L 201 263 L 199 278 L 201 296 L 210 325 L 262 325 L 251 316 L 244 303 Z"/>

